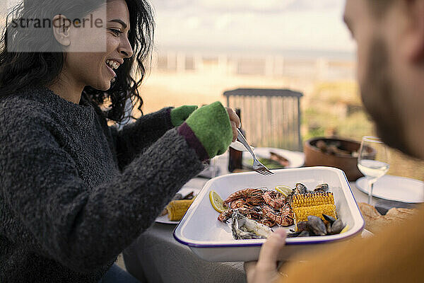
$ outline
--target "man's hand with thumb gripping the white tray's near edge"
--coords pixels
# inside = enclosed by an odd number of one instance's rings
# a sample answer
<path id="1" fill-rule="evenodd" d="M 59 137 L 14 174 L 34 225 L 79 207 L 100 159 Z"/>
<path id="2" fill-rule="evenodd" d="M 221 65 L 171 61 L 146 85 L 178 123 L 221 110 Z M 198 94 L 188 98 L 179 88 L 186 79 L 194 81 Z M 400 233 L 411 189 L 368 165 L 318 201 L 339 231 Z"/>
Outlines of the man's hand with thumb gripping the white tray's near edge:
<path id="1" fill-rule="evenodd" d="M 278 282 L 277 258 L 285 245 L 285 236 L 284 229 L 276 229 L 262 245 L 259 260 L 245 262 L 248 283 Z"/>

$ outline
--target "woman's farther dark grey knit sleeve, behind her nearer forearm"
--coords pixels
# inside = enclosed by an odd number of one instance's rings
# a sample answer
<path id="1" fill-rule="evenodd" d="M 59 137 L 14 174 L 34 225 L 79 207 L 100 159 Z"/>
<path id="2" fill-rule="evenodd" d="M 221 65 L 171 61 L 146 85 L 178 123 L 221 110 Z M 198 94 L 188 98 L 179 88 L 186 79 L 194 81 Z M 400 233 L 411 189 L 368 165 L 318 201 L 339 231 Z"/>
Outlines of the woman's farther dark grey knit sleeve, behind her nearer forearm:
<path id="1" fill-rule="evenodd" d="M 119 168 L 127 166 L 141 151 L 157 141 L 172 129 L 171 108 L 139 117 L 136 122 L 125 125 L 122 129 L 110 127 L 114 140 Z"/>

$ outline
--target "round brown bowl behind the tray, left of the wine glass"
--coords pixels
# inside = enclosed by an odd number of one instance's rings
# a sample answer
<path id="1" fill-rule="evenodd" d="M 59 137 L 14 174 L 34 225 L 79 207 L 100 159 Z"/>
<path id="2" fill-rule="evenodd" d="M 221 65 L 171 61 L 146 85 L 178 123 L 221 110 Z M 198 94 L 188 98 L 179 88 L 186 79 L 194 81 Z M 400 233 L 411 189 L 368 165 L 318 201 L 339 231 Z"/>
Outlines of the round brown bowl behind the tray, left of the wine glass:
<path id="1" fill-rule="evenodd" d="M 350 182 L 363 176 L 358 169 L 360 141 L 339 137 L 316 137 L 303 145 L 305 166 L 329 166 L 341 169 Z M 372 154 L 372 149 L 370 149 Z"/>

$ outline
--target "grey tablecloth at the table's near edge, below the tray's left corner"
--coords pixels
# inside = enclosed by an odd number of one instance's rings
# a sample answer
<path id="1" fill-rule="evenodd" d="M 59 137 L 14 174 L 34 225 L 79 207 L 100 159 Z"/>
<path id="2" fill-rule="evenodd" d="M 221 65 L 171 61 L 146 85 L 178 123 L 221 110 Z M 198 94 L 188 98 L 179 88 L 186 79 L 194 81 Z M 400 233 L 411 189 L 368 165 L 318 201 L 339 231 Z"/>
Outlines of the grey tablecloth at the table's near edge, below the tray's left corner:
<path id="1" fill-rule="evenodd" d="M 206 262 L 175 241 L 174 225 L 154 224 L 124 250 L 128 270 L 141 282 L 245 282 L 242 262 Z"/>

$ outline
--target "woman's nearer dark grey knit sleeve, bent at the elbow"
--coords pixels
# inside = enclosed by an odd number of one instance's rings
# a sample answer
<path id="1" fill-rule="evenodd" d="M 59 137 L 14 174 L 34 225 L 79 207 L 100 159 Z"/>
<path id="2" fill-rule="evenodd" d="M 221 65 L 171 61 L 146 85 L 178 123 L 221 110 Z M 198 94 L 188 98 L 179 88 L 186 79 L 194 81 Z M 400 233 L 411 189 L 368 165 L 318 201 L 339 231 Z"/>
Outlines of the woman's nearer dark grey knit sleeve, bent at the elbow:
<path id="1" fill-rule="evenodd" d="M 89 187 L 55 139 L 52 125 L 43 121 L 35 117 L 2 124 L 0 193 L 13 218 L 29 231 L 6 233 L 20 246 L 41 250 L 78 272 L 110 262 L 203 168 L 195 151 L 170 129 L 112 181 Z"/>

